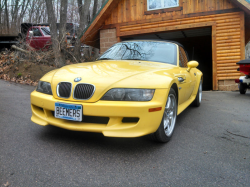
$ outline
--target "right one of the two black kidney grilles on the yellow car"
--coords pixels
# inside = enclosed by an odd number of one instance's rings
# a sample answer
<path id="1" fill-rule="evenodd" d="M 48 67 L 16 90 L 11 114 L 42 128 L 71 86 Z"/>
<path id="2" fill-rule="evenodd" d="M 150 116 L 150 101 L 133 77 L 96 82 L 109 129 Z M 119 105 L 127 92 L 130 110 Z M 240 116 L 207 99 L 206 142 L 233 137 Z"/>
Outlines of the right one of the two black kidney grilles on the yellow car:
<path id="1" fill-rule="evenodd" d="M 95 86 L 92 84 L 77 84 L 74 90 L 74 99 L 87 100 L 92 97 Z"/>

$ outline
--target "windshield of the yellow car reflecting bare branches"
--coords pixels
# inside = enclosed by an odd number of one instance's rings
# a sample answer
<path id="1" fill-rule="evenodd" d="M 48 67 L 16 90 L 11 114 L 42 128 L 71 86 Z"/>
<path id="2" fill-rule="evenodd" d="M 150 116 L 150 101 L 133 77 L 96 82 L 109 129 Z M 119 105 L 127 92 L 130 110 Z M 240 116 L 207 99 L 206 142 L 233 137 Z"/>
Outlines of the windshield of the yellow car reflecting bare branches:
<path id="1" fill-rule="evenodd" d="M 98 60 L 143 60 L 177 65 L 177 46 L 169 42 L 129 41 L 113 45 Z"/>

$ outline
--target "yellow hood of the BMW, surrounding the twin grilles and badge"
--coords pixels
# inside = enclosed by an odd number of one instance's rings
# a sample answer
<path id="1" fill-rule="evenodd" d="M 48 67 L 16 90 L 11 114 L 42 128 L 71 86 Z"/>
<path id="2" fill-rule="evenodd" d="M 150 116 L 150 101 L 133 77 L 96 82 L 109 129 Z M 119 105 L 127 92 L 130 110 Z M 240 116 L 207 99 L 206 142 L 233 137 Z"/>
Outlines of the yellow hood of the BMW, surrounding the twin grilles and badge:
<path id="1" fill-rule="evenodd" d="M 52 91 L 54 97 L 58 98 L 56 86 L 59 82 L 71 82 L 73 88 L 78 83 L 93 84 L 96 88 L 94 95 L 82 102 L 95 102 L 111 88 L 167 88 L 166 82 L 168 79 L 172 80 L 171 70 L 175 68 L 177 67 L 159 62 L 131 60 L 74 64 L 60 68 L 54 73 L 51 77 Z M 82 80 L 74 82 L 78 77 Z"/>

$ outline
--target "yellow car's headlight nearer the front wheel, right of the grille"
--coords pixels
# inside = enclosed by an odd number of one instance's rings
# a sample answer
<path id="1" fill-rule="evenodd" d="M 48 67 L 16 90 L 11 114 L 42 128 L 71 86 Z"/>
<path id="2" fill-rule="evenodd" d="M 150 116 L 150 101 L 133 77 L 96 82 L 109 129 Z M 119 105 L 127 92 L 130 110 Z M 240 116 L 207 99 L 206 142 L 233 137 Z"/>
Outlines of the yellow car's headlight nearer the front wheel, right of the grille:
<path id="1" fill-rule="evenodd" d="M 101 100 L 109 101 L 150 101 L 154 96 L 153 89 L 113 88 Z"/>

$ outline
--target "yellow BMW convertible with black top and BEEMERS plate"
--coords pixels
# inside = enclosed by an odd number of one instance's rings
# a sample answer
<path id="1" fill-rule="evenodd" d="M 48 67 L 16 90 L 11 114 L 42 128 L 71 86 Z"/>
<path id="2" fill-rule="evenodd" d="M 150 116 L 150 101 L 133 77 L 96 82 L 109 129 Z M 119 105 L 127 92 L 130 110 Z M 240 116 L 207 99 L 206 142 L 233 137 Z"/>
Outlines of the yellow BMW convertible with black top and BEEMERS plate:
<path id="1" fill-rule="evenodd" d="M 95 62 L 44 75 L 31 93 L 31 120 L 109 137 L 151 134 L 170 140 L 176 117 L 202 97 L 202 72 L 183 46 L 136 40 L 113 45 Z"/>

